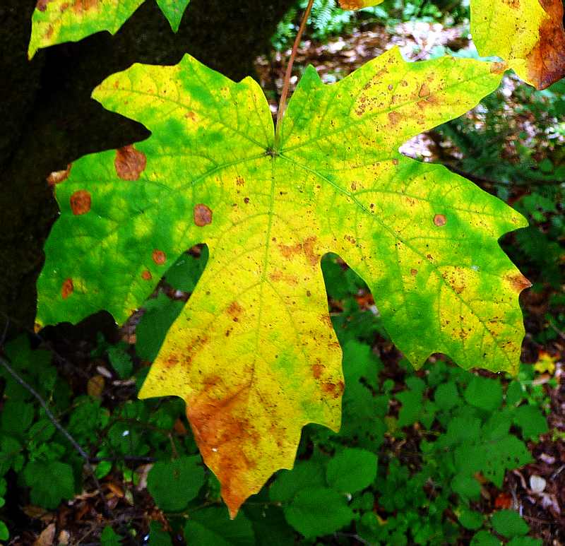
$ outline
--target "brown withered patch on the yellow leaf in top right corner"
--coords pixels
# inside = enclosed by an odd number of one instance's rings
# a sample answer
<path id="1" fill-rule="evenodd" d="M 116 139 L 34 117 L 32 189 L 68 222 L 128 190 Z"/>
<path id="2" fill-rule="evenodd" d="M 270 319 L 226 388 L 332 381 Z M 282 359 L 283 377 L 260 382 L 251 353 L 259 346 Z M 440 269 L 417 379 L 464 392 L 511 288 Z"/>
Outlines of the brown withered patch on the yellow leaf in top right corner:
<path id="1" fill-rule="evenodd" d="M 565 75 L 565 31 L 561 0 L 540 0 L 547 13 L 540 25 L 540 40 L 530 52 L 528 79 L 537 89 L 545 89 Z"/>

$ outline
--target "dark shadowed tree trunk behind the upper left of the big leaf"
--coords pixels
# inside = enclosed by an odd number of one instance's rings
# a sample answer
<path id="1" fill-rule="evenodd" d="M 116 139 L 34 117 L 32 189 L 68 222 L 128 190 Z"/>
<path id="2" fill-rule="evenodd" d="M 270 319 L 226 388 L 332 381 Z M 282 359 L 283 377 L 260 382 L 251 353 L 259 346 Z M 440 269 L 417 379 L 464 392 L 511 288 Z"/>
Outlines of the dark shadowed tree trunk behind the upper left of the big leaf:
<path id="1" fill-rule="evenodd" d="M 177 34 L 155 0 L 146 0 L 116 35 L 100 32 L 50 47 L 31 62 L 26 52 L 35 3 L 9 4 L 0 6 L 0 311 L 31 327 L 42 247 L 57 218 L 47 175 L 86 153 L 148 136 L 93 101 L 93 88 L 134 62 L 176 64 L 186 52 L 231 78 L 247 76 L 294 0 L 191 0 Z"/>

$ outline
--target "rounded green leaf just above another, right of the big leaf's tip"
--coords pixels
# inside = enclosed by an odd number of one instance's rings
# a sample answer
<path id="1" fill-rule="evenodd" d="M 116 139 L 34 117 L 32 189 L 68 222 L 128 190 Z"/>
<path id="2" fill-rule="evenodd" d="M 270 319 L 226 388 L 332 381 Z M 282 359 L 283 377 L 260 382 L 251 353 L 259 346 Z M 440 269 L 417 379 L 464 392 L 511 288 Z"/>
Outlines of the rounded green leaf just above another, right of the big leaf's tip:
<path id="1" fill-rule="evenodd" d="M 340 493 L 355 493 L 371 485 L 376 477 L 377 458 L 364 449 L 347 448 L 328 463 L 328 485 Z"/>

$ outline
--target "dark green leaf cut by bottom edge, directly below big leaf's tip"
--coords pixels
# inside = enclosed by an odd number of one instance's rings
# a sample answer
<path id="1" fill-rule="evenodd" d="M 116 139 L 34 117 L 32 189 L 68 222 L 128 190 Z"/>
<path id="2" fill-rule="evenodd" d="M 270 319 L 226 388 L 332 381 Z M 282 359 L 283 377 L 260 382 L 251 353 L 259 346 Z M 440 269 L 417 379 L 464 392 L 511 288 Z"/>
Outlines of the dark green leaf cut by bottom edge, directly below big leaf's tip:
<path id="1" fill-rule="evenodd" d="M 187 544 L 198 546 L 252 546 L 255 537 L 251 522 L 243 515 L 230 521 L 219 507 L 194 511 L 184 526 Z"/>

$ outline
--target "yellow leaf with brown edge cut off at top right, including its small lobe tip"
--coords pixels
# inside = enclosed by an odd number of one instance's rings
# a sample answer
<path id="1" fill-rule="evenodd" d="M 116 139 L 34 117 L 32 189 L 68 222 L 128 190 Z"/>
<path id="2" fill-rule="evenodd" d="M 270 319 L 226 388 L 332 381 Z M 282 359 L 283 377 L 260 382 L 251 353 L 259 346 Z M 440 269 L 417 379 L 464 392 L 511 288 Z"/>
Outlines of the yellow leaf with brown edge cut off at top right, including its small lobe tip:
<path id="1" fill-rule="evenodd" d="M 362 9 L 383 0 L 340 0 Z M 500 57 L 525 82 L 545 89 L 565 76 L 562 0 L 471 0 L 471 35 L 484 57 Z"/>

